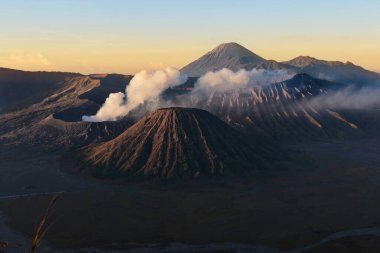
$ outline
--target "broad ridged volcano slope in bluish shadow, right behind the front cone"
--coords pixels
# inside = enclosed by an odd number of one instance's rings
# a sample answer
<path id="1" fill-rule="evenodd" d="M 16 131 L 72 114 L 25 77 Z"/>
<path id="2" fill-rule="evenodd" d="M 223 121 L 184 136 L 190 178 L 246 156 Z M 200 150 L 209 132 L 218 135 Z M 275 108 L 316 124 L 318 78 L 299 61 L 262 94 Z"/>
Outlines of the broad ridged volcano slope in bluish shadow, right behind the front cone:
<path id="1" fill-rule="evenodd" d="M 203 108 L 235 128 L 275 139 L 307 140 L 358 136 L 361 129 L 338 111 L 310 103 L 346 87 L 297 74 L 273 84 L 194 93 L 190 106 Z M 184 100 L 179 98 L 179 101 Z"/>

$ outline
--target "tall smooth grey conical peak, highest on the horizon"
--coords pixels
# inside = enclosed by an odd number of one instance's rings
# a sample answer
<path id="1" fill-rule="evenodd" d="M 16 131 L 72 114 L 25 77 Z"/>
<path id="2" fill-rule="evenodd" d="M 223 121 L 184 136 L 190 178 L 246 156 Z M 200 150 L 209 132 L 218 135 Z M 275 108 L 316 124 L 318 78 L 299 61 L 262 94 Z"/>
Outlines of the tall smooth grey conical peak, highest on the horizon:
<path id="1" fill-rule="evenodd" d="M 201 76 L 209 71 L 228 68 L 234 71 L 249 69 L 266 60 L 238 43 L 224 43 L 214 48 L 198 60 L 188 64 L 181 72 L 191 77 Z"/>

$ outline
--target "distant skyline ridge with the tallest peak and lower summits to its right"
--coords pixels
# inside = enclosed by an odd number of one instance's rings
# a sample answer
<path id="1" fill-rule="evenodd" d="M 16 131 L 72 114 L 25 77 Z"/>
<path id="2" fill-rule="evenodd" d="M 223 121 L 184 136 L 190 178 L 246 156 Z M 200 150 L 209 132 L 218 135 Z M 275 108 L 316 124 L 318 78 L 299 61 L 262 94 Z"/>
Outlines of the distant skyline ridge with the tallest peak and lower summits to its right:
<path id="1" fill-rule="evenodd" d="M 289 61 L 277 62 L 256 55 L 247 48 L 231 42 L 224 43 L 181 69 L 191 77 L 199 77 L 208 71 L 228 68 L 285 70 L 291 73 L 306 73 L 329 81 L 355 85 L 380 85 L 380 74 L 366 70 L 351 62 L 325 61 L 310 56 L 299 56 Z"/>

